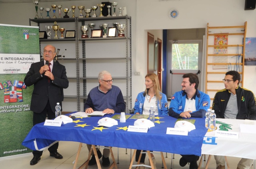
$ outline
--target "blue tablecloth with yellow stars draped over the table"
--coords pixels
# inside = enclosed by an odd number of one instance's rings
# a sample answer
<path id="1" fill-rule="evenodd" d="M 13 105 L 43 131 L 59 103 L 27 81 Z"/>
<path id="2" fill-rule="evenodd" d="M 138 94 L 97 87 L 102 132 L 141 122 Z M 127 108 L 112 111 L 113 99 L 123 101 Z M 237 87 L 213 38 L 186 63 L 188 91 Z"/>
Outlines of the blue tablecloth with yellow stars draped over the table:
<path id="1" fill-rule="evenodd" d="M 114 115 L 107 114 L 104 117 L 112 116 Z M 130 118 L 126 120 L 126 123 L 120 123 L 117 120 L 118 126 L 104 127 L 102 131 L 97 130 L 100 127 L 98 126 L 98 120 L 101 118 L 103 117 L 76 118 L 73 123 L 62 124 L 60 127 L 44 126 L 44 123 L 36 124 L 30 130 L 22 145 L 32 150 L 43 150 L 56 140 L 77 141 L 93 145 L 200 156 L 204 135 L 207 132 L 204 127 L 204 118 L 194 118 L 196 119 L 196 130 L 188 132 L 188 136 L 166 134 L 166 129 L 168 127 L 174 128 L 177 120 L 170 116 L 159 116 L 159 122 L 157 122 L 158 119 L 155 119 L 155 127 L 150 128 L 147 133 L 128 132 L 122 129 L 134 125 L 136 119 Z"/>

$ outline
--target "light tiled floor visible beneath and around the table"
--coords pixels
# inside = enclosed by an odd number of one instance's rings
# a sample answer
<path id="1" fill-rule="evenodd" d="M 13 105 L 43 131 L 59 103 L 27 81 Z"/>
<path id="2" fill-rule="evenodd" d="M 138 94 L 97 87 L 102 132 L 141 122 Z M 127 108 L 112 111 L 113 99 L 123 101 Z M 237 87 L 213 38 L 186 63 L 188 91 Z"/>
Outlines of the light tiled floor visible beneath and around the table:
<path id="1" fill-rule="evenodd" d="M 24 155 L 17 155 L 17 156 L 11 156 L 11 157 L 2 157 L 0 158 L 0 169 L 72 169 L 73 168 L 73 161 L 76 158 L 76 152 L 78 150 L 79 143 L 78 142 L 72 142 L 72 141 L 60 141 L 58 152 L 63 155 L 63 159 L 55 159 L 54 157 L 49 156 L 49 151 L 44 151 L 41 160 L 38 161 L 36 165 L 30 165 L 30 160 L 32 159 L 33 155 L 32 153 L 24 154 Z M 117 162 L 117 148 L 112 148 L 114 152 L 114 157 Z M 128 169 L 130 165 L 130 149 L 120 148 L 119 149 L 119 164 L 117 164 L 118 168 L 120 169 Z M 133 150 L 132 150 L 133 153 Z M 160 169 L 162 167 L 161 157 L 160 154 L 154 154 L 156 157 L 156 167 Z M 88 157 L 88 150 L 85 144 L 83 144 L 80 157 L 78 159 L 78 165 L 76 166 L 76 169 L 84 163 L 84 161 Z M 164 153 L 166 165 L 168 169 L 171 169 L 171 159 L 172 154 Z M 146 156 L 146 160 L 148 157 Z M 179 165 L 180 155 L 175 154 L 173 159 L 173 165 L 172 169 L 189 169 L 189 166 L 186 165 L 185 167 L 180 167 Z M 236 169 L 236 165 L 240 158 L 236 157 L 228 157 L 228 162 L 230 169 Z M 100 159 L 100 162 L 102 160 Z M 110 162 L 112 160 L 110 159 Z M 198 161 L 199 163 L 199 161 Z M 135 164 L 135 162 L 134 162 Z M 146 163 L 148 165 L 148 163 Z M 205 166 L 205 162 L 203 163 L 203 167 Z M 88 166 L 88 169 L 97 169 L 97 165 Z M 108 167 L 102 167 L 102 169 L 107 169 Z M 135 168 L 135 167 L 133 167 Z M 214 157 L 210 160 L 210 166 L 208 169 L 216 169 Z M 250 167 L 250 169 L 254 169 L 253 166 Z"/>

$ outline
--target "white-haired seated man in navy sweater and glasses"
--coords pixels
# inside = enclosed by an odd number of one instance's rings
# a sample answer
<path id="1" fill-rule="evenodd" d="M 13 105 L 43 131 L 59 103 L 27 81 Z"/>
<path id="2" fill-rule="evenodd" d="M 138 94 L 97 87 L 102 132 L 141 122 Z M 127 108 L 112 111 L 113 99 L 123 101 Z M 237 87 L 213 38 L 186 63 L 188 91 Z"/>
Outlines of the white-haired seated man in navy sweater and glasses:
<path id="1" fill-rule="evenodd" d="M 84 104 L 84 111 L 86 113 L 92 113 L 94 111 L 102 111 L 107 114 L 114 114 L 125 111 L 124 97 L 120 88 L 112 85 L 113 79 L 109 72 L 101 71 L 98 75 L 99 86 L 92 88 L 88 94 L 86 103 Z M 88 150 L 90 151 L 92 145 L 87 144 Z M 88 165 L 95 165 L 96 159 L 92 151 L 92 158 L 90 159 Z M 97 149 L 97 154 L 99 159 L 102 154 L 99 149 Z M 102 165 L 108 167 L 110 165 L 109 161 L 110 150 L 103 150 Z"/>

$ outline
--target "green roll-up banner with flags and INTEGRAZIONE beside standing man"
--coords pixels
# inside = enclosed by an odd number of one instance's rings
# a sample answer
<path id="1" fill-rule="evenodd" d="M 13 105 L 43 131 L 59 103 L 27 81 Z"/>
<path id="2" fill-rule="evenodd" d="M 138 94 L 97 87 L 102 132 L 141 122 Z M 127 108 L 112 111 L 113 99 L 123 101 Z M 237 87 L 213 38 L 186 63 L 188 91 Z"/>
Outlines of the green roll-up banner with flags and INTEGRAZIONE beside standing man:
<path id="1" fill-rule="evenodd" d="M 0 157 L 32 152 L 21 145 L 33 126 L 33 86 L 24 77 L 38 61 L 38 27 L 0 24 Z"/>

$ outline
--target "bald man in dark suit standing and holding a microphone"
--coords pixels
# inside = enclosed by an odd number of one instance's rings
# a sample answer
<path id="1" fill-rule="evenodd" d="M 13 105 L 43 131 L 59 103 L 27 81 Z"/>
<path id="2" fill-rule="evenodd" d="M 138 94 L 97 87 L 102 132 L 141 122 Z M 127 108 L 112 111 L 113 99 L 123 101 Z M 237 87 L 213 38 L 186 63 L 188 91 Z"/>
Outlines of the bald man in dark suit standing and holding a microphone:
<path id="1" fill-rule="evenodd" d="M 55 118 L 55 106 L 59 102 L 62 106 L 63 88 L 68 88 L 66 68 L 53 61 L 56 56 L 56 48 L 52 45 L 44 47 L 44 60 L 32 63 L 24 79 L 27 86 L 34 85 L 31 97 L 30 110 L 33 111 L 33 126 L 48 119 Z M 48 148 L 50 156 L 62 159 L 57 152 L 58 142 Z M 41 159 L 43 151 L 33 151 L 33 159 L 30 165 L 35 165 Z"/>

